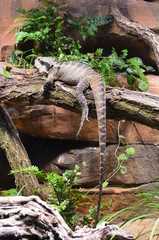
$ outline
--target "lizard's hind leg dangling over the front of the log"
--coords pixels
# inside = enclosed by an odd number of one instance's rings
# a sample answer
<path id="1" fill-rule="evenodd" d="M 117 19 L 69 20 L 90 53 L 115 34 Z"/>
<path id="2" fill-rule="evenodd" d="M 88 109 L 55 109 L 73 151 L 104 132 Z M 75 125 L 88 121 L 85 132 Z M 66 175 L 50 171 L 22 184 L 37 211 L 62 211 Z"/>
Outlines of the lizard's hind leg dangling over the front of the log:
<path id="1" fill-rule="evenodd" d="M 83 94 L 83 92 L 89 87 L 89 83 L 86 80 L 81 80 L 78 84 L 77 84 L 77 88 L 76 88 L 76 94 L 77 94 L 77 100 L 79 102 L 79 104 L 82 107 L 82 117 L 81 117 L 81 122 L 80 122 L 80 126 L 78 129 L 78 132 L 76 134 L 76 139 L 78 139 L 78 136 L 80 134 L 80 131 L 83 127 L 84 121 L 85 119 L 88 121 L 88 113 L 89 113 L 89 109 L 88 109 L 88 104 L 87 104 L 87 100 Z"/>

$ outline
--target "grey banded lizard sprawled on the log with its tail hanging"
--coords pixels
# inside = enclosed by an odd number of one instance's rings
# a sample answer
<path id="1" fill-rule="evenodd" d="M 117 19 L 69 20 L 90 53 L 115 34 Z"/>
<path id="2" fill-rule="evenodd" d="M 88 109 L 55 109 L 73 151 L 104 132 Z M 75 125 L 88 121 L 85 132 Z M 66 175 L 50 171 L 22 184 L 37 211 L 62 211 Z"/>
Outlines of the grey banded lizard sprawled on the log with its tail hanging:
<path id="1" fill-rule="evenodd" d="M 106 95 L 102 75 L 84 63 L 73 61 L 59 62 L 51 57 L 38 57 L 35 60 L 35 67 L 38 68 L 40 73 L 47 74 L 46 82 L 43 85 L 42 90 L 39 92 L 39 96 L 47 93 L 56 80 L 76 86 L 76 97 L 82 108 L 81 123 L 76 137 L 78 137 L 85 119 L 88 120 L 89 109 L 83 93 L 89 87 L 92 89 L 97 111 L 100 148 L 99 193 L 94 225 L 94 227 L 96 227 L 101 205 L 106 151 Z"/>

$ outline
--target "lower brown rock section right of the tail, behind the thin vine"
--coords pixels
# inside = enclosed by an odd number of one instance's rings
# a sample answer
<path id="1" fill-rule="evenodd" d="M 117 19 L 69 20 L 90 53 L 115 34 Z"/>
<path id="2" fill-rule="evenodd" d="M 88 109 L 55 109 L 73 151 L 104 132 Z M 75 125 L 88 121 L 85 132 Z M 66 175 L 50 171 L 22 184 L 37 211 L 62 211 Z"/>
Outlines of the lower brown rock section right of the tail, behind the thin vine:
<path id="1" fill-rule="evenodd" d="M 135 148 L 135 155 L 130 157 L 128 161 L 124 161 L 123 165 L 127 168 L 126 174 L 118 172 L 113 178 L 111 183 L 113 184 L 144 184 L 155 182 L 158 179 L 159 170 L 159 147 L 153 145 L 132 145 Z M 115 145 L 107 147 L 107 159 L 106 175 L 112 174 L 117 167 L 117 159 L 114 157 L 116 150 Z M 120 147 L 118 154 L 124 153 L 124 147 Z"/>

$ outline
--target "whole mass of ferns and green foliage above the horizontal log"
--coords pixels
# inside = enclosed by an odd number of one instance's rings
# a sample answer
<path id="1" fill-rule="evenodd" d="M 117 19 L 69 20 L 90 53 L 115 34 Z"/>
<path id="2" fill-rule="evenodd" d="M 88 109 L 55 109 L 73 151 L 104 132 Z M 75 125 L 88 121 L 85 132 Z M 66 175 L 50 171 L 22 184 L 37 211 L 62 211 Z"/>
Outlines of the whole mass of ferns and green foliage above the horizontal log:
<path id="1" fill-rule="evenodd" d="M 17 50 L 13 51 L 8 61 L 18 67 L 32 67 L 34 59 L 38 55 L 54 56 L 60 61 L 79 61 L 88 64 L 103 75 L 106 85 L 114 82 L 118 85 L 115 72 L 126 73 L 127 81 L 130 85 L 142 91 L 148 89 L 148 81 L 145 72 L 152 72 L 154 69 L 143 64 L 140 58 L 127 58 L 128 51 L 122 50 L 118 55 L 115 49 L 108 57 L 103 57 L 103 49 L 99 48 L 95 53 L 80 53 L 81 45 L 79 41 L 74 41 L 72 37 L 67 37 L 64 33 L 64 26 L 74 24 L 82 38 L 85 40 L 88 35 L 95 36 L 100 26 L 111 21 L 110 16 L 88 18 L 83 14 L 82 23 L 72 19 L 64 20 L 59 15 L 56 0 L 50 3 L 42 1 L 44 10 L 32 9 L 26 11 L 17 9 L 24 17 L 16 18 L 15 22 L 21 22 L 19 27 L 13 29 L 16 35 Z M 65 30 L 66 32 L 66 30 Z M 28 48 L 20 50 L 20 46 L 26 43 Z M 140 82 L 137 85 L 137 78 Z"/>

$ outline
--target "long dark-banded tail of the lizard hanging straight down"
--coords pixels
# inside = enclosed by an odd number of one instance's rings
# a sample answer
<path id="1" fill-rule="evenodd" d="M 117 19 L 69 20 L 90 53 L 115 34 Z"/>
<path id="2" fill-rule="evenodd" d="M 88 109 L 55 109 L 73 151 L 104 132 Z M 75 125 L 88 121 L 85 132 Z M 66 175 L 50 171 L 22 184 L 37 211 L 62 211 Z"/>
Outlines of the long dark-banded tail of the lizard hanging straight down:
<path id="1" fill-rule="evenodd" d="M 104 182 L 104 173 L 105 173 L 105 150 L 106 150 L 106 95 L 105 95 L 105 85 L 100 74 L 93 76 L 90 82 L 90 86 L 93 92 L 96 111 L 97 111 L 97 120 L 98 120 L 98 132 L 99 132 L 99 147 L 100 147 L 100 177 L 99 177 L 99 194 L 98 194 L 98 205 L 95 226 L 97 225 L 100 205 L 101 205 L 101 196 L 102 196 L 102 186 Z"/>

